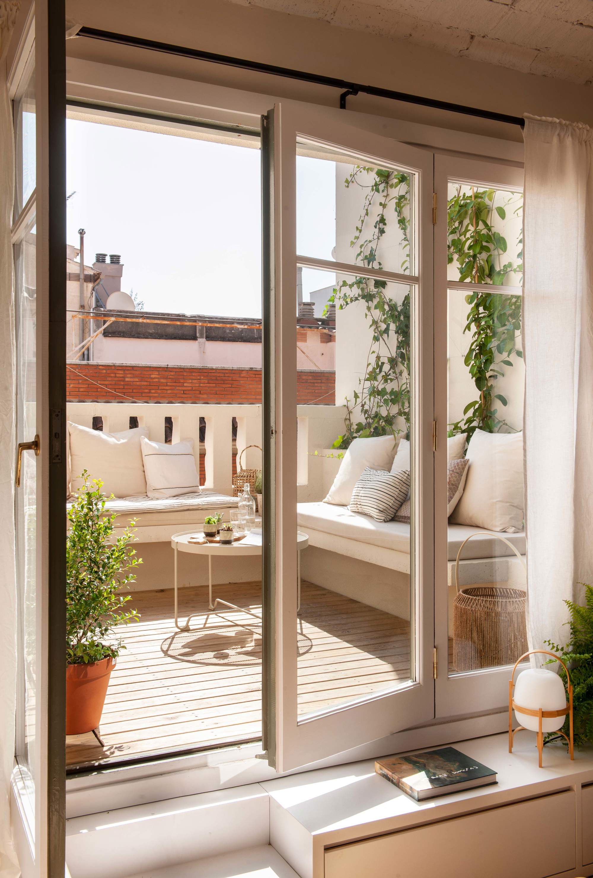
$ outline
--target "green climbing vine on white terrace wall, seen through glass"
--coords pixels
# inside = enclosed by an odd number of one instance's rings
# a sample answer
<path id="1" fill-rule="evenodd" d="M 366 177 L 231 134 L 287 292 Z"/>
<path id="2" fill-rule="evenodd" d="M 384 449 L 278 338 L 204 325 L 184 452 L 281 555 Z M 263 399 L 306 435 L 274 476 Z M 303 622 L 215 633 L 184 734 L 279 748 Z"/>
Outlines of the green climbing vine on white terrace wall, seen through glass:
<path id="1" fill-rule="evenodd" d="M 350 242 L 357 250 L 356 263 L 365 268 L 383 268 L 380 244 L 394 219 L 404 255 L 401 273 L 409 273 L 409 175 L 356 166 L 344 185 L 365 191 Z M 495 213 L 505 219 L 507 212 L 518 213 L 521 209 L 520 193 L 461 184 L 456 187 L 447 205 L 448 261 L 456 263 L 460 281 L 495 287 L 509 284 L 510 275 L 521 274 L 520 236 L 517 260 L 513 262 L 507 255 L 507 241 L 493 226 Z M 410 419 L 410 293 L 398 302 L 389 295 L 385 281 L 355 277 L 336 286 L 328 306 L 336 303 L 342 309 L 352 302 L 364 303 L 371 340 L 365 376 L 359 379 L 352 399 L 345 400 L 344 434 L 333 446 L 343 449 L 357 437 L 409 435 Z M 507 399 L 496 392 L 496 382 L 504 374 L 503 367 L 512 367 L 511 357 L 523 353 L 517 347 L 521 331 L 518 295 L 471 291 L 466 295 L 466 304 L 469 310 L 464 334 L 471 335 L 465 364 L 474 380 L 477 399 L 466 405 L 459 421 L 449 425 L 449 433 L 466 433 L 469 438 L 476 428 L 495 432 L 506 426 L 499 407 L 505 407 Z"/>

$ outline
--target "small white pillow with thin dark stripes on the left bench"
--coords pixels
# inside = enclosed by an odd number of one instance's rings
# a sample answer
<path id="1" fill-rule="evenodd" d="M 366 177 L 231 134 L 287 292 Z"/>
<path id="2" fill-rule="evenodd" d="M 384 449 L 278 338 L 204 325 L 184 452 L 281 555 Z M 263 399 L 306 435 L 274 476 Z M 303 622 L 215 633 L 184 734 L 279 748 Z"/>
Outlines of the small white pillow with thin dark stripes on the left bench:
<path id="1" fill-rule="evenodd" d="M 178 497 L 184 493 L 200 493 L 199 475 L 193 457 L 193 439 L 175 445 L 141 439 L 146 493 L 148 497 Z"/>

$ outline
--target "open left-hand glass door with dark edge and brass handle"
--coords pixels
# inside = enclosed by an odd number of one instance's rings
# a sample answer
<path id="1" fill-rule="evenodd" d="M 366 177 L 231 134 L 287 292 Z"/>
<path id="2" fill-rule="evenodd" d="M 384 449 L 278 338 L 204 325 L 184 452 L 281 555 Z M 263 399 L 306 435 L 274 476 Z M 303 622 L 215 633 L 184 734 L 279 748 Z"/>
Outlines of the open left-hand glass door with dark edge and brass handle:
<path id="1" fill-rule="evenodd" d="M 8 58 L 18 648 L 11 825 L 24 878 L 65 868 L 64 21 L 60 2 L 22 4 Z"/>

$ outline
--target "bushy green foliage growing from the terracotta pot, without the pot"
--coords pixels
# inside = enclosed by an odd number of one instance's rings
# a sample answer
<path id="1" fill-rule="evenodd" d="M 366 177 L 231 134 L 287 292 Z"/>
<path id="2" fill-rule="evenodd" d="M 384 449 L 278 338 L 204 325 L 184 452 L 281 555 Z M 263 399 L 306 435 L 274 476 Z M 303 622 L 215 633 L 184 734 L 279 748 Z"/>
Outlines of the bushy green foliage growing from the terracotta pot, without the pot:
<path id="1" fill-rule="evenodd" d="M 69 665 L 88 665 L 126 649 L 112 636 L 116 625 L 137 621 L 119 594 L 136 578 L 141 564 L 131 543 L 134 523 L 111 542 L 116 515 L 105 514 L 107 498 L 100 479 L 81 476 L 83 486 L 69 509 L 66 540 L 66 659 Z"/>

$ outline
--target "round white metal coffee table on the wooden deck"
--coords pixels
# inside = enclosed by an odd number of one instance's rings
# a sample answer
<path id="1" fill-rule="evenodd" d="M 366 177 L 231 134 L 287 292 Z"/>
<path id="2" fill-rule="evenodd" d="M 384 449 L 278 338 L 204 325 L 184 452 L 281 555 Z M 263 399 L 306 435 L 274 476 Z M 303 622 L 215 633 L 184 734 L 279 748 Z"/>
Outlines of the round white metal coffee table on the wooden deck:
<path id="1" fill-rule="evenodd" d="M 189 626 L 189 617 L 187 622 L 184 625 L 179 625 L 177 622 L 177 552 L 184 551 L 189 552 L 192 555 L 207 555 L 208 556 L 208 608 L 215 609 L 217 604 L 223 604 L 225 607 L 231 609 L 241 610 L 243 613 L 249 613 L 249 615 L 255 616 L 259 619 L 259 616 L 255 613 L 251 613 L 248 609 L 242 607 L 236 607 L 235 604 L 228 603 L 228 601 L 223 601 L 221 598 L 216 598 L 215 601 L 212 600 L 212 559 L 217 556 L 221 558 L 221 556 L 229 556 L 236 555 L 237 557 L 242 557 L 245 555 L 261 555 L 262 554 L 262 531 L 261 529 L 253 529 L 244 539 L 239 540 L 237 543 L 230 543 L 229 545 L 225 545 L 222 543 L 190 543 L 191 536 L 199 536 L 201 535 L 201 531 L 199 529 L 192 530 L 184 530 L 181 533 L 173 534 L 171 536 L 171 546 L 175 553 L 175 627 L 182 631 L 188 629 Z M 300 531 L 297 531 L 297 576 L 298 576 L 298 597 L 297 597 L 297 612 L 300 611 L 300 552 L 303 549 L 307 548 L 309 544 L 309 538 L 307 534 L 303 534 Z"/>

